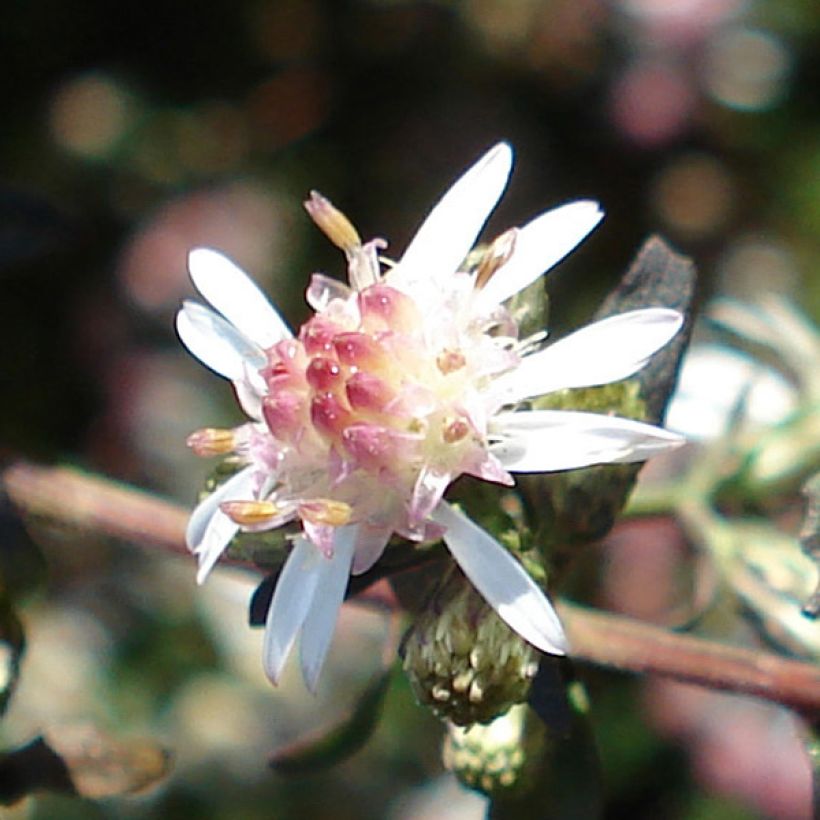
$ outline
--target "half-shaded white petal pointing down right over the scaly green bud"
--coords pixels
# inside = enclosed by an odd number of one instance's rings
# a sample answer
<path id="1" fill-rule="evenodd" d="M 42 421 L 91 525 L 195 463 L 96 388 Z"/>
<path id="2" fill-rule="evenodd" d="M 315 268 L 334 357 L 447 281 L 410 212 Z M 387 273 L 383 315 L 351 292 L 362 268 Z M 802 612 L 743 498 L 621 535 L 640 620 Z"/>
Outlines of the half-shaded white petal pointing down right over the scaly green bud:
<path id="1" fill-rule="evenodd" d="M 526 570 L 489 533 L 442 502 L 434 521 L 473 586 L 507 625 L 542 652 L 565 655 L 567 639 L 558 615 Z"/>

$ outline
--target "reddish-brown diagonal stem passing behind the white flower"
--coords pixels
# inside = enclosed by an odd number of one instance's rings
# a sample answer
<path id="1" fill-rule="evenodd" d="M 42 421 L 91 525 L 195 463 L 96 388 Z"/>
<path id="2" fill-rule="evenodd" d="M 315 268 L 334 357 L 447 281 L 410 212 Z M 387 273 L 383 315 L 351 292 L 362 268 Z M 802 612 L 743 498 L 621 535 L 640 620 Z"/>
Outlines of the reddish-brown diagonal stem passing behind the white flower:
<path id="1" fill-rule="evenodd" d="M 12 501 L 29 514 L 187 552 L 187 512 L 132 487 L 70 468 L 26 463 L 9 467 L 2 483 Z M 572 604 L 559 604 L 558 609 L 578 660 L 755 695 L 808 714 L 820 712 L 820 666 Z"/>

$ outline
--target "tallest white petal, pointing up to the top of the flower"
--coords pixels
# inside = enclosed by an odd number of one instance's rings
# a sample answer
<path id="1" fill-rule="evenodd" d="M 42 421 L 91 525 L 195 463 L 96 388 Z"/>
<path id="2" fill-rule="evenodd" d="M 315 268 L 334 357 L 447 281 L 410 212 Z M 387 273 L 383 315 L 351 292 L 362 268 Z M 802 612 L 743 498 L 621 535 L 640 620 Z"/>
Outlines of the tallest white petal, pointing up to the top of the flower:
<path id="1" fill-rule="evenodd" d="M 512 149 L 502 142 L 458 179 L 424 220 L 388 282 L 399 276 L 406 286 L 435 282 L 454 273 L 475 241 L 507 185 Z"/>

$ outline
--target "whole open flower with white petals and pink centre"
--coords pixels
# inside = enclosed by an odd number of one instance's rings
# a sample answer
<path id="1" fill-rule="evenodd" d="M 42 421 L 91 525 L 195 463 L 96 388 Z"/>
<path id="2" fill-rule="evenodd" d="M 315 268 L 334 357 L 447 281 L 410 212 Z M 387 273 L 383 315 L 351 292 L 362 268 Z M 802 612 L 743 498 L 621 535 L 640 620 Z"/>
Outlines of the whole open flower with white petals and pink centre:
<path id="1" fill-rule="evenodd" d="M 315 689 L 348 577 L 369 569 L 393 533 L 443 538 L 498 615 L 538 649 L 567 650 L 539 586 L 493 537 L 443 500 L 467 473 L 512 485 L 511 473 L 643 461 L 682 439 L 630 419 L 528 409 L 554 390 L 630 376 L 681 326 L 666 308 L 635 310 L 544 346 L 518 338 L 504 302 L 597 225 L 573 202 L 502 234 L 476 269 L 464 260 L 503 192 L 512 150 L 499 144 L 445 194 L 398 262 L 362 243 L 317 193 L 305 203 L 345 253 L 349 285 L 314 274 L 314 310 L 294 335 L 256 285 L 217 251 L 189 256 L 214 310 L 185 302 L 180 339 L 233 382 L 250 418 L 201 430 L 201 454 L 232 452 L 242 469 L 194 510 L 187 530 L 202 582 L 240 530 L 301 523 L 268 611 L 264 665 L 278 681 L 300 637 Z"/>

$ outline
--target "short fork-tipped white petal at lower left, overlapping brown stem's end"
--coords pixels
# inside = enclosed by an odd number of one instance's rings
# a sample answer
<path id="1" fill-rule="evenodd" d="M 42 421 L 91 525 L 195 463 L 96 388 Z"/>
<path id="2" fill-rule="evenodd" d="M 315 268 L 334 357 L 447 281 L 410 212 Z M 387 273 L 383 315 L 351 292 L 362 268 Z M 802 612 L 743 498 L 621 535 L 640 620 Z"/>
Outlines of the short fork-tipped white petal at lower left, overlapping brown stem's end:
<path id="1" fill-rule="evenodd" d="M 239 525 L 231 521 L 219 505 L 225 501 L 252 498 L 255 483 L 255 469 L 246 467 L 214 490 L 191 515 L 186 541 L 199 560 L 196 574 L 198 584 L 204 583 L 231 539 L 239 532 Z"/>

